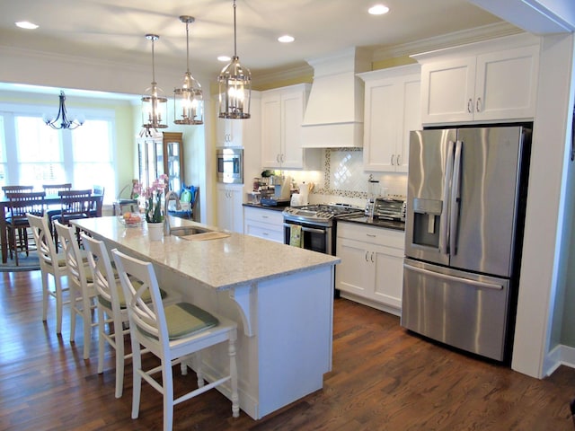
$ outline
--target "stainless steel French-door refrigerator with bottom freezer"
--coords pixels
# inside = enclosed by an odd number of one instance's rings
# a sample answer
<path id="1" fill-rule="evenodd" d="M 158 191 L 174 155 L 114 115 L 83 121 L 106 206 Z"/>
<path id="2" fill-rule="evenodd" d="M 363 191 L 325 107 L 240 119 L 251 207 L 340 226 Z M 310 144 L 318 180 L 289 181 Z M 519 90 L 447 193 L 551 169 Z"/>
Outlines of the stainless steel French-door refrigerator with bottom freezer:
<path id="1" fill-rule="evenodd" d="M 411 132 L 403 327 L 508 359 L 530 136 L 525 126 Z"/>

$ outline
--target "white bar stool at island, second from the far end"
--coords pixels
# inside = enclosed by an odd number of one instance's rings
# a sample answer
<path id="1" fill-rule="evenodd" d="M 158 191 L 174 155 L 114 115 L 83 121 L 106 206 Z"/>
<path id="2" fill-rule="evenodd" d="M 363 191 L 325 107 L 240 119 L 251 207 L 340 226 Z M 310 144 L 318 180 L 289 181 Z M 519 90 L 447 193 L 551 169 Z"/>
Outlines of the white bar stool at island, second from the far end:
<path id="1" fill-rule="evenodd" d="M 82 318 L 84 327 L 84 359 L 90 357 L 91 330 L 98 324 L 92 314 L 96 308 L 92 270 L 80 251 L 75 239 L 74 227 L 54 222 L 57 236 L 66 260 L 68 287 L 70 291 L 70 343 L 75 342 L 75 318 Z"/>

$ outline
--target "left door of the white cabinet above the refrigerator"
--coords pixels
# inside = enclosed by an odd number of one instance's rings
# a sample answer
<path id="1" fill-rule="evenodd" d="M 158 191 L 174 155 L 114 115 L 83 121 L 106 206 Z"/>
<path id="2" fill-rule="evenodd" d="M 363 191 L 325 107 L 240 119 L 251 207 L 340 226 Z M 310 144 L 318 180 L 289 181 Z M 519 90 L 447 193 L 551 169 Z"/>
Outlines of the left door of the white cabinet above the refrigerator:
<path id="1" fill-rule="evenodd" d="M 423 123 L 473 120 L 475 57 L 421 66 Z"/>

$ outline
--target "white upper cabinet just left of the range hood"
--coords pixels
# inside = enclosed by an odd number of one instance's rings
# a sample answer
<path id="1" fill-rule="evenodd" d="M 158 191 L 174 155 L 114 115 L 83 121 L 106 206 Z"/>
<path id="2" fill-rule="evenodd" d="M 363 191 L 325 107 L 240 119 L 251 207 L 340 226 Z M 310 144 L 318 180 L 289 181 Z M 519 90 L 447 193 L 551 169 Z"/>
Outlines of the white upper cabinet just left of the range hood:
<path id="1" fill-rule="evenodd" d="M 301 125 L 309 91 L 309 84 L 296 84 L 261 92 L 262 167 L 304 167 Z"/>

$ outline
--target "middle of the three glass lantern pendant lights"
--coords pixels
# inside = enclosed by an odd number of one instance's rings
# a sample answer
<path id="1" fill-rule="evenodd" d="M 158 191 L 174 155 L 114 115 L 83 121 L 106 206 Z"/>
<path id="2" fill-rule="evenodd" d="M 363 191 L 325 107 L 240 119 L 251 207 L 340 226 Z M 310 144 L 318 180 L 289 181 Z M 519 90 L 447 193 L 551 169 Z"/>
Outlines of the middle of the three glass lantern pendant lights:
<path id="1" fill-rule="evenodd" d="M 182 125 L 204 124 L 204 101 L 201 85 L 190 74 L 190 32 L 188 25 L 194 22 L 193 16 L 182 15 L 181 22 L 186 24 L 186 73 L 183 84 L 173 89 L 173 122 Z"/>

